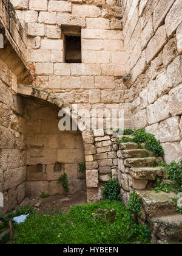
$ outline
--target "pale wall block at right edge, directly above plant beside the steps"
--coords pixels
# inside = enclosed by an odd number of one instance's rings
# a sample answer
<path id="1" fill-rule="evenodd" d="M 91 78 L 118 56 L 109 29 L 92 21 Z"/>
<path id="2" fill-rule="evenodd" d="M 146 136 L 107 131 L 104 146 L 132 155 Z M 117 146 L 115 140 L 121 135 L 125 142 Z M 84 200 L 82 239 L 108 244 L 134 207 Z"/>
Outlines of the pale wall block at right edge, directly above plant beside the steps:
<path id="1" fill-rule="evenodd" d="M 165 154 L 164 160 L 166 161 L 167 165 L 169 165 L 172 161 L 178 162 L 180 160 L 182 148 L 179 142 L 163 143 L 162 146 Z"/>

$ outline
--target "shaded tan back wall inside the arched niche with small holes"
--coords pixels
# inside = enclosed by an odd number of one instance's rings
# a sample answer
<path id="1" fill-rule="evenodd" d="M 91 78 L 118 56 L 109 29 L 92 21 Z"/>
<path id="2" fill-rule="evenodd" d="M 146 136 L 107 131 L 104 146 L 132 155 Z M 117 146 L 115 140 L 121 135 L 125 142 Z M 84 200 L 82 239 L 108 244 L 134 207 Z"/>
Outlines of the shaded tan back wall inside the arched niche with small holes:
<path id="1" fill-rule="evenodd" d="M 59 177 L 66 173 L 69 193 L 86 190 L 86 172 L 79 172 L 85 162 L 84 146 L 78 131 L 61 132 L 58 110 L 48 103 L 25 100 L 27 144 L 27 196 L 64 194 Z"/>

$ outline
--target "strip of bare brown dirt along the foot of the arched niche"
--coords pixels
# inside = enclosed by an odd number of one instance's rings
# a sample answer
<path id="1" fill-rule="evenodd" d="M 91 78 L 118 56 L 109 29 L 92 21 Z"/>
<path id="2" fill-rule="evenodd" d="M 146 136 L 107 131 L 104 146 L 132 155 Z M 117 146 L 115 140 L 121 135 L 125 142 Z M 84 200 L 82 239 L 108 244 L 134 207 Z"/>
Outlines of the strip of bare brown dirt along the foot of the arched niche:
<path id="1" fill-rule="evenodd" d="M 87 204 L 87 194 L 86 191 L 79 191 L 75 194 L 68 194 L 68 195 L 56 195 L 56 196 L 49 196 L 47 198 L 41 197 L 26 197 L 24 201 L 21 202 L 19 206 L 24 204 L 29 204 L 35 207 L 36 211 L 45 212 L 47 210 L 62 210 L 75 206 L 75 205 L 83 205 Z"/>

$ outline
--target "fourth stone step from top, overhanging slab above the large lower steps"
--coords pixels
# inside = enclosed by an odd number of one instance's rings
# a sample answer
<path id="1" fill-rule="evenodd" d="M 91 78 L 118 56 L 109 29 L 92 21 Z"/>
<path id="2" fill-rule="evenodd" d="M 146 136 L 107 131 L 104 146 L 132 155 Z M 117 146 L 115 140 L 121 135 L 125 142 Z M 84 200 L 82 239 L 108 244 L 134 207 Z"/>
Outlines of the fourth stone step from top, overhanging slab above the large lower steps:
<path id="1" fill-rule="evenodd" d="M 136 180 L 155 180 L 157 176 L 163 176 L 164 167 L 139 167 L 130 168 L 130 175 Z"/>

